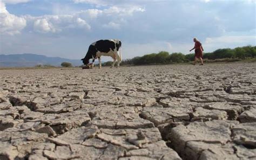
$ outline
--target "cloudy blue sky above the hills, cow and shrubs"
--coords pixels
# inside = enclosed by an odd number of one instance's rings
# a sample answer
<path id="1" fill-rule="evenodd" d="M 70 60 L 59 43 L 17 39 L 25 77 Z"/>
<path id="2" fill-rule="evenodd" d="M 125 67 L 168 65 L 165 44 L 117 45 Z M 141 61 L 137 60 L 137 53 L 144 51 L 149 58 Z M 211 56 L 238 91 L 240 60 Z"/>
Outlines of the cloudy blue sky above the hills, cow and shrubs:
<path id="1" fill-rule="evenodd" d="M 205 52 L 255 46 L 255 8 L 254 0 L 1 0 L 0 54 L 81 59 L 99 39 L 122 40 L 124 59 L 188 54 L 193 37 Z"/>

